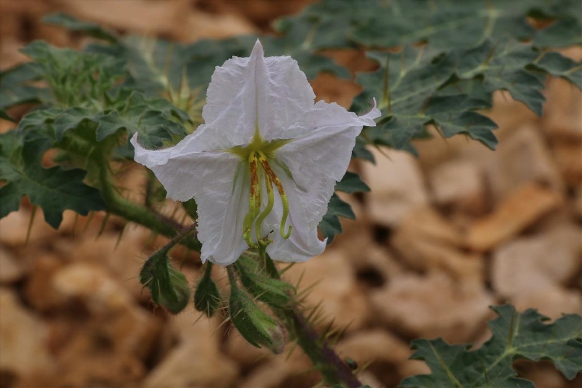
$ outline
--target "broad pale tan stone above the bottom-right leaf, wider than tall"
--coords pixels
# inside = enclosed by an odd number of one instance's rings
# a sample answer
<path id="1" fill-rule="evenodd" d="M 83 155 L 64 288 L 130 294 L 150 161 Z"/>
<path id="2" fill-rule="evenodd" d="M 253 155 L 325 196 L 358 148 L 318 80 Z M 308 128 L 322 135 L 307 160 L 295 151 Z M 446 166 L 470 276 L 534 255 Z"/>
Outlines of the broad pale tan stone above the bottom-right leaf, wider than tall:
<path id="1" fill-rule="evenodd" d="M 371 301 L 378 319 L 410 336 L 459 343 L 484 327 L 494 299 L 481 284 L 430 272 L 397 277 L 372 292 Z"/>

